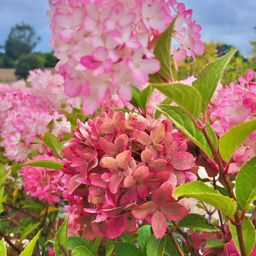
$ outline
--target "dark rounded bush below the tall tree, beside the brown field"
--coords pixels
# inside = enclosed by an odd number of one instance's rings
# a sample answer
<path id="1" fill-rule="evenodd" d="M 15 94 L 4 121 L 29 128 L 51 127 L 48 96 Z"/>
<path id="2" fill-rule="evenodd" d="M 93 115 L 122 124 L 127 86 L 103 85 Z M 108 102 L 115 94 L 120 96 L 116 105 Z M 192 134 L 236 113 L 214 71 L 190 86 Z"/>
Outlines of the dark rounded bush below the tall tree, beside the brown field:
<path id="1" fill-rule="evenodd" d="M 15 76 L 26 79 L 28 71 L 36 68 L 44 68 L 44 63 L 35 53 L 21 55 L 15 69 Z"/>

